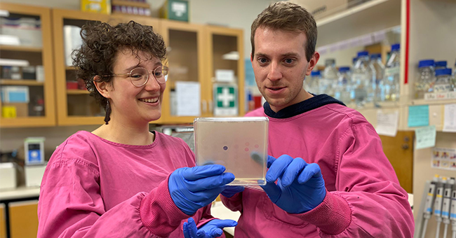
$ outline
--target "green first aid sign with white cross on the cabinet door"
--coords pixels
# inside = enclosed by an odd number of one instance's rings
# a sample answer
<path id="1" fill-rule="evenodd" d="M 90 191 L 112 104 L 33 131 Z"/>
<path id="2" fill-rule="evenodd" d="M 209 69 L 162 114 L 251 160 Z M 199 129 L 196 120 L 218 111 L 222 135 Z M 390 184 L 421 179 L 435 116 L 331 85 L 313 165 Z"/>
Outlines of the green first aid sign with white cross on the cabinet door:
<path id="1" fill-rule="evenodd" d="M 237 85 L 214 85 L 214 115 L 238 115 L 238 87 Z"/>

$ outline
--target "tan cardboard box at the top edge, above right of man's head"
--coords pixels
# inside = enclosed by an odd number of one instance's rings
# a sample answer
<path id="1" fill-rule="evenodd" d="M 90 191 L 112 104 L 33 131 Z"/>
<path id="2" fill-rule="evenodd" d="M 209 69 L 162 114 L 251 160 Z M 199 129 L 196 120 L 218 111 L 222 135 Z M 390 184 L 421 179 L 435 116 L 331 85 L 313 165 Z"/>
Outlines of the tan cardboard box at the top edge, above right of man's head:
<path id="1" fill-rule="evenodd" d="M 315 20 L 345 10 L 349 5 L 349 0 L 293 0 L 293 2 L 305 8 Z"/>

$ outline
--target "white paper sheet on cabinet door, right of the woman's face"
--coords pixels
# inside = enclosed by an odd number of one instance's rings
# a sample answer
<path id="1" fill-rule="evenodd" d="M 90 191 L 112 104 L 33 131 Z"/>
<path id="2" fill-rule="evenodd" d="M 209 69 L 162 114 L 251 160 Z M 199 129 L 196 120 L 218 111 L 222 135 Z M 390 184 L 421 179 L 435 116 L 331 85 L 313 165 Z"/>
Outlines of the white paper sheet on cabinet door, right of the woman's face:
<path id="1" fill-rule="evenodd" d="M 177 116 L 201 115 L 201 86 L 198 82 L 177 81 L 175 94 Z"/>

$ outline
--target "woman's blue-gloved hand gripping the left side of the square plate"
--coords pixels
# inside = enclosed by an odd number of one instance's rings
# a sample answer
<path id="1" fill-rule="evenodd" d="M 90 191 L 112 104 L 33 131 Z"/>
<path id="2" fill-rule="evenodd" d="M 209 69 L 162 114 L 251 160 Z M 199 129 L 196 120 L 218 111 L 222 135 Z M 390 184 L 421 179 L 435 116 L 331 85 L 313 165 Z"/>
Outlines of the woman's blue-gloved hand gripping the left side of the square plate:
<path id="1" fill-rule="evenodd" d="M 173 202 L 187 215 L 207 206 L 234 180 L 234 174 L 224 170 L 222 165 L 176 169 L 168 181 Z"/>

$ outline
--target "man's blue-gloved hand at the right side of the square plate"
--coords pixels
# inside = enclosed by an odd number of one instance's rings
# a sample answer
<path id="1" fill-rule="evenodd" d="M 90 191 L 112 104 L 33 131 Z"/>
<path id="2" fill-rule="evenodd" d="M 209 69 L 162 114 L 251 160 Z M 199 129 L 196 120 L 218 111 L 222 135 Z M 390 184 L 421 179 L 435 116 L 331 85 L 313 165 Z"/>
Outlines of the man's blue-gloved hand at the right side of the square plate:
<path id="1" fill-rule="evenodd" d="M 269 199 L 290 214 L 302 214 L 317 207 L 326 196 L 325 181 L 317 164 L 302 158 L 269 156 L 265 186 Z M 275 181 L 277 180 L 277 184 Z"/>

